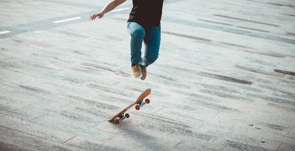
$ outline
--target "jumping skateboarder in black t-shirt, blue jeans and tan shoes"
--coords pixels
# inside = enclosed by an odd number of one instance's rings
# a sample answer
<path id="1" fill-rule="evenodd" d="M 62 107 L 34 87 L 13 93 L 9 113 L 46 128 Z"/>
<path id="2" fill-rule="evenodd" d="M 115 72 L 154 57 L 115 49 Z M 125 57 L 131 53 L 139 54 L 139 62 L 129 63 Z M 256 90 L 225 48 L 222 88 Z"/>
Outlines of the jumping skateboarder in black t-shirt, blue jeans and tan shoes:
<path id="1" fill-rule="evenodd" d="M 126 0 L 112 0 L 100 12 L 92 14 L 91 20 L 103 15 Z M 161 41 L 161 17 L 164 0 L 133 0 L 133 8 L 127 20 L 127 31 L 131 36 L 131 71 L 132 75 L 142 80 L 147 77 L 147 67 L 154 63 L 159 55 Z M 145 55 L 141 57 L 142 43 Z"/>

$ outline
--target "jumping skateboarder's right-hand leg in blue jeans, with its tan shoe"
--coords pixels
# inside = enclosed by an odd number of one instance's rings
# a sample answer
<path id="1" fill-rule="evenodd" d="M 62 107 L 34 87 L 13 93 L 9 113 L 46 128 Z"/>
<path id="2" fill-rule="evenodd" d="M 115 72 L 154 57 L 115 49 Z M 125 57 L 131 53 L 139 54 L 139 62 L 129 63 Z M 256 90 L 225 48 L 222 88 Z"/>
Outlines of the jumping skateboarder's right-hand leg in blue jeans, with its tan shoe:
<path id="1" fill-rule="evenodd" d="M 161 25 L 157 27 L 146 27 L 145 56 L 141 58 L 140 69 L 143 74 L 142 80 L 147 77 L 147 67 L 154 63 L 159 56 L 161 42 Z"/>

